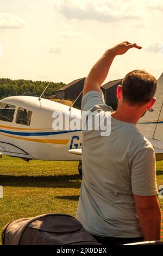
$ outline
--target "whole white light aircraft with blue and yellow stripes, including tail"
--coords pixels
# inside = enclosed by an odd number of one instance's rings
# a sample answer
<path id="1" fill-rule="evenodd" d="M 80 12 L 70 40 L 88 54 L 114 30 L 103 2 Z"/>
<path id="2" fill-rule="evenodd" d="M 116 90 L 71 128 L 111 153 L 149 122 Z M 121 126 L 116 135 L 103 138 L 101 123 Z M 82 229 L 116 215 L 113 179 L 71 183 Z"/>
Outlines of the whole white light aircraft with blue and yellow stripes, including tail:
<path id="1" fill-rule="evenodd" d="M 140 132 L 151 141 L 156 161 L 163 160 L 163 74 L 158 80 L 157 100 L 139 120 Z M 81 111 L 48 99 L 11 96 L 0 101 L 0 156 L 23 160 L 79 161 L 82 173 L 82 131 L 53 130 L 52 115 L 60 111 L 81 120 Z M 72 154 L 70 154 L 72 153 Z"/>

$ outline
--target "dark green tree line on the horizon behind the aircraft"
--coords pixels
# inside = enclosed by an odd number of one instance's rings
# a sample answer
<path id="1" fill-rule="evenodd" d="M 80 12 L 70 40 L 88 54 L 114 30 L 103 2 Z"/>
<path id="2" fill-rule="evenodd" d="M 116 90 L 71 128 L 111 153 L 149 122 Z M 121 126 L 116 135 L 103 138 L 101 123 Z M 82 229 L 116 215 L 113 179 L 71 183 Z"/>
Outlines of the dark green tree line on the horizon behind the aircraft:
<path id="1" fill-rule="evenodd" d="M 11 80 L 10 78 L 0 78 L 0 99 L 9 96 L 26 95 L 40 96 L 46 88 L 47 81 L 32 81 L 32 80 Z M 64 83 L 49 84 L 47 90 L 42 97 L 48 97 L 55 94 L 55 91 L 65 86 Z"/>

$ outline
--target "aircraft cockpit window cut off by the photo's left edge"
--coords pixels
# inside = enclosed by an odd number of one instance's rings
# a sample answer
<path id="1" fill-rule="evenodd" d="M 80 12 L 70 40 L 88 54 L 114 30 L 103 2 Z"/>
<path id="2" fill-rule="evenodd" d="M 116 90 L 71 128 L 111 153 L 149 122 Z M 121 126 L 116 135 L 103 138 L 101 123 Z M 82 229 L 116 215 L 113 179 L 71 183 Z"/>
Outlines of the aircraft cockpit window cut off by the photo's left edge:
<path id="1" fill-rule="evenodd" d="M 0 102 L 0 120 L 12 122 L 14 119 L 15 106 Z"/>

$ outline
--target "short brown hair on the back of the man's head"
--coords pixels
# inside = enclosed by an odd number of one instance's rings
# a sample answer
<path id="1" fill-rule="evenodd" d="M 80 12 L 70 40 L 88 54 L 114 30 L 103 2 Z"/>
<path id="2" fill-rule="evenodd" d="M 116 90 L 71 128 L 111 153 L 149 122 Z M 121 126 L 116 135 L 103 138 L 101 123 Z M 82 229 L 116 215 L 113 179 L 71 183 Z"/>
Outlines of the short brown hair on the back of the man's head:
<path id="1" fill-rule="evenodd" d="M 122 81 L 123 100 L 130 105 L 143 105 L 155 94 L 157 81 L 145 70 L 129 72 Z"/>

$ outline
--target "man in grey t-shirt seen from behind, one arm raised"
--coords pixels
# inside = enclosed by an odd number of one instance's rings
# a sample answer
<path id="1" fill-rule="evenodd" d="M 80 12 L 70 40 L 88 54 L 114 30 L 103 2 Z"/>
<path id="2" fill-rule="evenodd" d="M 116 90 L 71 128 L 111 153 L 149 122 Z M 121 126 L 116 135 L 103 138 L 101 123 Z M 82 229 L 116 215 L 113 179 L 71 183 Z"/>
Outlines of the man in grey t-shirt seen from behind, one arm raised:
<path id="1" fill-rule="evenodd" d="M 104 53 L 87 76 L 82 111 L 106 114 L 101 85 L 112 61 L 136 44 L 122 42 Z M 83 181 L 77 218 L 103 243 L 160 240 L 161 211 L 157 198 L 152 144 L 136 128 L 155 102 L 156 79 L 146 71 L 126 75 L 117 88 L 118 107 L 111 113 L 110 136 L 83 131 Z"/>

